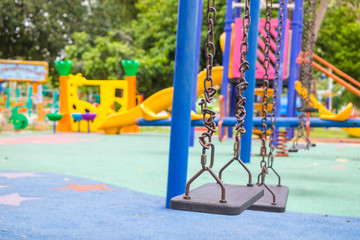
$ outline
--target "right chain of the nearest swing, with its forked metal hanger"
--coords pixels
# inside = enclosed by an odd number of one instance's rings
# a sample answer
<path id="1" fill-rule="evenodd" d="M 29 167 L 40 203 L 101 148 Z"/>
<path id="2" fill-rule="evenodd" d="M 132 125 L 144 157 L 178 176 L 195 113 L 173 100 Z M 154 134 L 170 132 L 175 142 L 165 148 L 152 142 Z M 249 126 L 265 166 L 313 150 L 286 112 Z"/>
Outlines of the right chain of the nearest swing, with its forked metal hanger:
<path id="1" fill-rule="evenodd" d="M 227 162 L 219 172 L 219 178 L 222 179 L 222 173 L 223 171 L 235 160 L 238 161 L 242 167 L 248 172 L 249 175 L 249 182 L 248 186 L 252 186 L 252 176 L 250 170 L 246 167 L 244 162 L 240 159 L 240 143 L 241 143 L 241 137 L 246 132 L 244 128 L 244 122 L 245 122 L 245 116 L 246 116 L 246 110 L 245 110 L 245 104 L 246 104 L 246 98 L 243 95 L 243 92 L 246 90 L 248 86 L 248 82 L 245 79 L 245 71 L 249 69 L 249 62 L 246 61 L 246 56 L 249 48 L 248 43 L 248 33 L 250 28 L 250 0 L 245 0 L 245 8 L 244 8 L 244 17 L 243 17 L 243 38 L 240 46 L 240 81 L 236 85 L 237 88 L 237 96 L 238 101 L 235 106 L 235 117 L 238 123 L 235 125 L 235 142 L 234 142 L 234 157 Z M 250 130 L 251 131 L 251 130 Z"/>

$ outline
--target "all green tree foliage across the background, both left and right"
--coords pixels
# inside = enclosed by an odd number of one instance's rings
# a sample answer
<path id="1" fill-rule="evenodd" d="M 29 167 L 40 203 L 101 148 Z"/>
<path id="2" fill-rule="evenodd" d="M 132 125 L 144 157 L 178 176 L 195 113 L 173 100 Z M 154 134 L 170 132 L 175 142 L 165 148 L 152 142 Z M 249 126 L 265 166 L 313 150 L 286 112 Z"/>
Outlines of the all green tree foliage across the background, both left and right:
<path id="1" fill-rule="evenodd" d="M 222 63 L 219 36 L 225 4 L 216 1 L 215 65 Z M 172 85 L 177 7 L 178 0 L 2 0 L 0 58 L 48 61 L 54 85 L 56 58 L 73 59 L 72 72 L 89 79 L 122 79 L 121 60 L 137 59 L 138 91 L 147 97 Z M 199 70 L 205 62 L 205 13 Z M 359 42 L 359 1 L 330 1 L 316 53 L 360 79 Z M 342 99 L 359 102 L 348 91 Z"/>

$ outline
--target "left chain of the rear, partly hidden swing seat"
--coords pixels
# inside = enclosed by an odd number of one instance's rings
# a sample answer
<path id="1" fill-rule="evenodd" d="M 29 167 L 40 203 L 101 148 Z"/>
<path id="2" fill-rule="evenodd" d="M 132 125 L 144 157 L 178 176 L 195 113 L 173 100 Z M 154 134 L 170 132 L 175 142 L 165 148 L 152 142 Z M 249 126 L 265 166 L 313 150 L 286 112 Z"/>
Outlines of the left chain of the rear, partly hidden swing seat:
<path id="1" fill-rule="evenodd" d="M 266 1 L 266 20 L 265 20 L 265 31 L 266 31 L 266 36 L 264 37 L 264 42 L 265 42 L 265 49 L 264 49 L 264 55 L 265 55 L 265 59 L 263 62 L 264 65 L 264 70 L 265 73 L 263 75 L 263 91 L 264 91 L 264 95 L 263 95 L 263 102 L 262 102 L 262 119 L 261 119 L 261 157 L 262 160 L 260 162 L 260 167 L 261 167 L 261 175 L 262 175 L 262 179 L 261 179 L 261 184 L 264 183 L 264 178 L 265 178 L 265 173 L 267 173 L 267 166 L 266 166 L 266 161 L 265 161 L 265 156 L 266 156 L 266 130 L 267 130 L 267 109 L 268 109 L 268 101 L 269 101 L 269 96 L 268 96 L 268 89 L 269 89 L 269 73 L 268 73 L 268 69 L 270 66 L 270 57 L 269 57 L 269 53 L 270 53 L 270 30 L 271 30 L 271 8 L 272 8 L 272 0 L 267 0 Z"/>

